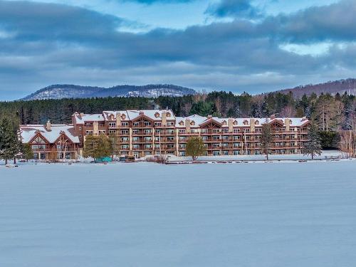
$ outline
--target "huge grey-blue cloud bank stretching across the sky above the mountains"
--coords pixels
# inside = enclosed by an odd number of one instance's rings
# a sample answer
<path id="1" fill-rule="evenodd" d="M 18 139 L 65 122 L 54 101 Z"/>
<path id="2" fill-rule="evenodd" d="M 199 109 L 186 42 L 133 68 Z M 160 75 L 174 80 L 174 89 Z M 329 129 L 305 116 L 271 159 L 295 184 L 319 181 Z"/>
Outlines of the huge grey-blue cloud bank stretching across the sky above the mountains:
<path id="1" fill-rule="evenodd" d="M 116 16 L 0 0 L 0 91 L 20 98 L 51 83 L 177 83 L 258 92 L 347 78 L 356 66 L 355 6 L 344 0 L 258 22 L 127 33 Z M 330 47 L 317 56 L 283 49 L 324 41 Z"/>

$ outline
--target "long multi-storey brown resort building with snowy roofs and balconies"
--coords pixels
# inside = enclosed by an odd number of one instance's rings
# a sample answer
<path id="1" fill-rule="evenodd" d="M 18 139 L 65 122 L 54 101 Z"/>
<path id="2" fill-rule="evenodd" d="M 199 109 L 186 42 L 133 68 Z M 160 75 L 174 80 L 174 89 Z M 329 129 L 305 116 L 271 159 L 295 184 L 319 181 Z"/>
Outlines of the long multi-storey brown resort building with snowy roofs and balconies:
<path id="1" fill-rule="evenodd" d="M 221 118 L 176 117 L 172 110 L 75 112 L 72 125 L 21 125 L 21 138 L 38 159 L 75 159 L 83 152 L 88 135 L 112 135 L 120 155 L 185 156 L 189 137 L 200 136 L 207 155 L 261 154 L 262 125 L 269 123 L 273 135 L 271 154 L 300 153 L 307 141 L 310 121 L 305 117 Z"/>

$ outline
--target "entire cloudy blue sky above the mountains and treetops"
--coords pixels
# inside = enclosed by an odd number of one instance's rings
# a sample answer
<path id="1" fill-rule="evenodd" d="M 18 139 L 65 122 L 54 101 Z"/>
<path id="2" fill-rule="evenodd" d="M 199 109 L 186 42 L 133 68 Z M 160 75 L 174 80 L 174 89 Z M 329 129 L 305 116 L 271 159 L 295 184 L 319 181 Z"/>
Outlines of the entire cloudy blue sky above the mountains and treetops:
<path id="1" fill-rule="evenodd" d="M 0 100 L 52 84 L 255 94 L 356 78 L 355 0 L 0 0 Z"/>

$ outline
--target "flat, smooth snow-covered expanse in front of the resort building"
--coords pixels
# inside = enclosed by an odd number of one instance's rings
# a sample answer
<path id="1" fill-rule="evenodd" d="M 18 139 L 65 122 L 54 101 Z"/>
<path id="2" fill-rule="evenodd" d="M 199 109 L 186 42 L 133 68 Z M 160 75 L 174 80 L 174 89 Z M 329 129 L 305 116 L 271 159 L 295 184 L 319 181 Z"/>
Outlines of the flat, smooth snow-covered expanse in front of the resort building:
<path id="1" fill-rule="evenodd" d="M 356 162 L 0 166 L 0 266 L 353 267 Z"/>

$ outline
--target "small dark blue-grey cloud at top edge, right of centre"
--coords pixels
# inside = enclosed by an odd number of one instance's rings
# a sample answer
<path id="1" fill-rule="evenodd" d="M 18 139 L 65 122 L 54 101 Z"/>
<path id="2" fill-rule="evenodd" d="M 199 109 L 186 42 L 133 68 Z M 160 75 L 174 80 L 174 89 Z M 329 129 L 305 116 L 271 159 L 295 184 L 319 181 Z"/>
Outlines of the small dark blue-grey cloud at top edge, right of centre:
<path id="1" fill-rule="evenodd" d="M 210 4 L 206 14 L 217 17 L 232 16 L 237 18 L 256 18 L 261 12 L 250 0 L 221 0 L 217 4 Z"/>

